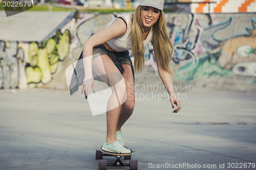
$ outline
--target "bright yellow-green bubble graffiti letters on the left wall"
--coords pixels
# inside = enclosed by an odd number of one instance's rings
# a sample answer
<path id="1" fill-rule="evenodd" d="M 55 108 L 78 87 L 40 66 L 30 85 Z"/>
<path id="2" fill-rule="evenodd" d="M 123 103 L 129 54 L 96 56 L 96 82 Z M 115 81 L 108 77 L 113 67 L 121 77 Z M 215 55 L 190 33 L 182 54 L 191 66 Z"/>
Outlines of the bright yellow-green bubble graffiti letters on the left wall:
<path id="1" fill-rule="evenodd" d="M 47 84 L 52 79 L 59 63 L 69 54 L 70 37 L 69 30 L 63 34 L 58 30 L 55 36 L 41 45 L 36 42 L 29 44 L 29 61 L 25 71 L 30 86 L 36 86 L 38 83 Z"/>

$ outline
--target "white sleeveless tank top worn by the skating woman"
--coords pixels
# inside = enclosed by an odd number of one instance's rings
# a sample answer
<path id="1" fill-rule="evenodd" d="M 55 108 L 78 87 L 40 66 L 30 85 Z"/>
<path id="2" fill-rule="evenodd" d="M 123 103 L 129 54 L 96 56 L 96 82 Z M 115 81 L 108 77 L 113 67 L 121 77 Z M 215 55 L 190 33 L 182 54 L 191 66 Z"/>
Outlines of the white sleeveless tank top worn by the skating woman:
<path id="1" fill-rule="evenodd" d="M 132 50 L 132 43 L 131 43 L 131 20 L 130 20 L 131 15 L 132 14 L 121 15 L 121 16 L 123 16 L 126 19 L 126 23 L 127 23 L 126 33 L 122 37 L 116 37 L 116 38 L 106 42 L 116 52 L 123 52 L 123 51 L 126 51 L 126 50 Z M 108 23 L 108 25 L 106 25 L 106 27 L 109 27 L 114 20 L 115 19 L 113 19 L 110 23 Z M 150 33 L 148 33 L 146 39 L 143 41 L 144 46 L 146 46 L 148 43 L 151 42 L 152 37 L 153 37 L 153 30 L 151 28 Z"/>

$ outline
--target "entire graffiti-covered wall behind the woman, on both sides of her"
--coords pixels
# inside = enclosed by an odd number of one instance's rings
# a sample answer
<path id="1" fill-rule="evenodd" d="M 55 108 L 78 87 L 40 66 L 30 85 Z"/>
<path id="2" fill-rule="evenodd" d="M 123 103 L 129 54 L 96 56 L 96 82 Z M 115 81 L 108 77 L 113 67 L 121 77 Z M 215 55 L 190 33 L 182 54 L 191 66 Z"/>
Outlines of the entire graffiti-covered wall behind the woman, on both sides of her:
<path id="1" fill-rule="evenodd" d="M 62 63 L 75 62 L 90 34 L 118 15 L 82 13 L 43 42 L 0 40 L 0 87 L 42 87 L 56 75 L 65 77 L 59 71 Z M 175 47 L 171 62 L 175 81 L 225 80 L 256 87 L 255 13 L 165 15 Z M 145 70 L 157 71 L 152 44 L 145 47 Z"/>

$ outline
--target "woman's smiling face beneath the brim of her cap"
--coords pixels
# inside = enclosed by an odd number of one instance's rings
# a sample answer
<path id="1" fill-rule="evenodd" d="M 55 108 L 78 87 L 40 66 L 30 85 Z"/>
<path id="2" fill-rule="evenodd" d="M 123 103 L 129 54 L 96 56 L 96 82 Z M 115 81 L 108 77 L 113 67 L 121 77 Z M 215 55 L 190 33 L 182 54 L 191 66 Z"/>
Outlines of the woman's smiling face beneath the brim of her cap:
<path id="1" fill-rule="evenodd" d="M 151 28 L 158 20 L 160 10 L 154 7 L 143 6 L 141 10 L 141 21 L 143 26 Z"/>

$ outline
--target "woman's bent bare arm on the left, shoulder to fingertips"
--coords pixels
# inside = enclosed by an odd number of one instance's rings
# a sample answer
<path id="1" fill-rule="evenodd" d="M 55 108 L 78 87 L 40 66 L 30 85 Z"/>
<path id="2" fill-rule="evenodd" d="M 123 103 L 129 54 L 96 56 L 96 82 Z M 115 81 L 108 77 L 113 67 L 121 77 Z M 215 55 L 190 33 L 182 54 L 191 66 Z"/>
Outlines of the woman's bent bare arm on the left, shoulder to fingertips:
<path id="1" fill-rule="evenodd" d="M 92 60 L 93 60 L 93 47 L 107 42 L 115 37 L 122 37 L 126 32 L 125 23 L 121 19 L 115 19 L 109 27 L 100 29 L 86 42 L 84 42 L 83 50 L 83 66 L 85 77 L 82 85 L 82 93 L 88 96 L 91 87 L 94 91 L 94 81 L 92 75 Z"/>

